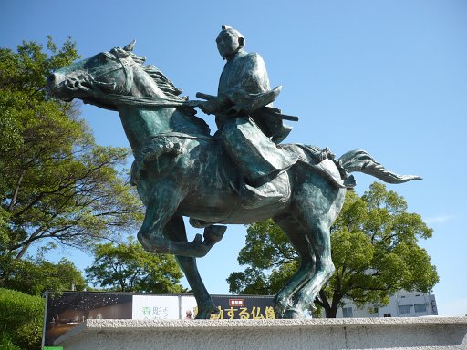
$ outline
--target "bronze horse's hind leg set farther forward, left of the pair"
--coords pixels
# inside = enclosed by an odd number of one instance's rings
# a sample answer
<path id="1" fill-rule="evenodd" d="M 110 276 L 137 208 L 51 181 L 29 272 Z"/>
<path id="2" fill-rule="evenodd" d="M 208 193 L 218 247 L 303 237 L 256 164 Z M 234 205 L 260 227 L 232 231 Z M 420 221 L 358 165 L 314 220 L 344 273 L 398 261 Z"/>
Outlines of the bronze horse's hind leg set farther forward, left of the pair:
<path id="1" fill-rule="evenodd" d="M 275 315 L 277 318 L 303 318 L 303 312 L 293 307 L 293 300 L 298 292 L 315 273 L 315 254 L 306 232 L 290 214 L 275 216 L 273 221 L 287 235 L 300 257 L 300 266 L 294 276 L 275 295 Z"/>

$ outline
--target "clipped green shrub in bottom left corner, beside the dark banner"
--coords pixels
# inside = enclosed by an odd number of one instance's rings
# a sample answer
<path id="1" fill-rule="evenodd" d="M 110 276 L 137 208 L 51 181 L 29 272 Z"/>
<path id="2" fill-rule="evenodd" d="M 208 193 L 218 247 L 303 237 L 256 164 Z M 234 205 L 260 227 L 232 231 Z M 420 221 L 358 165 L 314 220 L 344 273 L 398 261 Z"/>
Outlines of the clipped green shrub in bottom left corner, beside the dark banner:
<path id="1" fill-rule="evenodd" d="M 44 305 L 40 296 L 0 288 L 0 332 L 3 334 L 0 341 L 5 342 L 6 349 L 16 350 L 16 346 L 25 350 L 40 349 Z"/>

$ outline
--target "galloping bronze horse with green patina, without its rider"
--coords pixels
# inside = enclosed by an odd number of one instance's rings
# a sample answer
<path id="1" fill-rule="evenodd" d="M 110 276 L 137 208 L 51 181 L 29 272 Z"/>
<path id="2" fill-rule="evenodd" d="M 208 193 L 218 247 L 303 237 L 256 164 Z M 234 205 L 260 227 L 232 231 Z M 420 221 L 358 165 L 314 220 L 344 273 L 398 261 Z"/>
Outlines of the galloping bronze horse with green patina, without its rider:
<path id="1" fill-rule="evenodd" d="M 223 157 L 208 125 L 195 116 L 196 101 L 180 98 L 180 89 L 154 66 L 135 55 L 134 42 L 63 67 L 47 78 L 47 88 L 63 100 L 119 112 L 135 161 L 131 181 L 137 186 L 146 215 L 138 232 L 144 249 L 176 256 L 198 304 L 197 318 L 217 310 L 198 273 L 196 258 L 222 239 L 218 223 L 252 223 L 272 218 L 301 258 L 293 278 L 275 296 L 278 318 L 300 318 L 313 306 L 317 293 L 335 268 L 331 261 L 329 229 L 342 208 L 346 190 L 355 185 L 348 175 L 360 171 L 389 183 L 420 180 L 386 170 L 363 150 L 338 160 L 306 145 L 280 145 L 296 152 L 298 161 L 287 171 L 284 194 L 259 208 L 244 206 L 238 170 Z M 188 242 L 183 216 L 204 227 Z"/>

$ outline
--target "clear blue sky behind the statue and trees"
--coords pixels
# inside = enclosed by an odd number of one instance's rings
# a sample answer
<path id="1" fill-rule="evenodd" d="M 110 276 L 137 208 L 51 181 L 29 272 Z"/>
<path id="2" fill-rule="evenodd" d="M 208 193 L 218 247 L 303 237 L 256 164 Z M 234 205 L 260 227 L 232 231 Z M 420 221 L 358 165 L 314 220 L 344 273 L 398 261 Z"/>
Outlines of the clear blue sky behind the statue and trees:
<path id="1" fill-rule="evenodd" d="M 439 313 L 467 314 L 466 2 L 5 1 L 0 45 L 45 43 L 47 35 L 61 45 L 70 36 L 90 57 L 136 38 L 134 51 L 194 98 L 216 91 L 223 61 L 214 39 L 223 24 L 244 34 L 247 50 L 265 58 L 271 84 L 283 86 L 275 106 L 300 117 L 286 142 L 328 146 L 337 156 L 366 149 L 390 170 L 424 178 L 388 188 L 434 229 L 420 245 L 441 277 Z M 128 147 L 116 113 L 83 106 L 82 117 L 100 144 Z M 374 180 L 356 178 L 359 194 Z M 211 293 L 228 293 L 244 234 L 230 226 L 199 260 Z M 81 269 L 91 262 L 55 253 Z"/>

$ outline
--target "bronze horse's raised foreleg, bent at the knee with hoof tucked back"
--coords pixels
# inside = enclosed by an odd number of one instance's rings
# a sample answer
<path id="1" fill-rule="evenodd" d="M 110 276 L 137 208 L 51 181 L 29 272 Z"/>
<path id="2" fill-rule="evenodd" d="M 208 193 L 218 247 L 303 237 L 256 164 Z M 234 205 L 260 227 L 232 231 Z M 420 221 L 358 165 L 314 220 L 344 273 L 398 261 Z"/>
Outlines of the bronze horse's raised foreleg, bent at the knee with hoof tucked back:
<path id="1" fill-rule="evenodd" d="M 222 230 L 215 228 L 206 228 L 204 241 L 201 235 L 196 235 L 192 242 L 176 242 L 164 237 L 165 226 L 171 221 L 183 197 L 182 190 L 171 182 L 158 182 L 149 194 L 145 194 L 146 214 L 138 232 L 138 240 L 146 251 L 202 257 L 222 239 Z"/>

